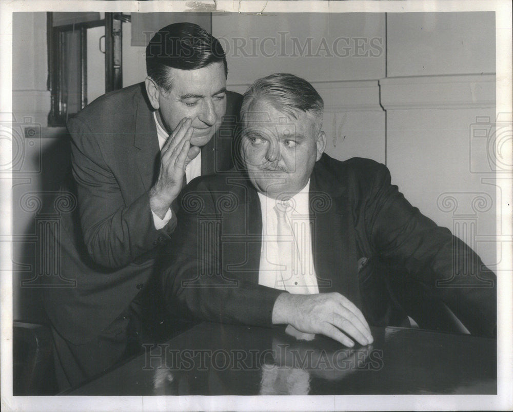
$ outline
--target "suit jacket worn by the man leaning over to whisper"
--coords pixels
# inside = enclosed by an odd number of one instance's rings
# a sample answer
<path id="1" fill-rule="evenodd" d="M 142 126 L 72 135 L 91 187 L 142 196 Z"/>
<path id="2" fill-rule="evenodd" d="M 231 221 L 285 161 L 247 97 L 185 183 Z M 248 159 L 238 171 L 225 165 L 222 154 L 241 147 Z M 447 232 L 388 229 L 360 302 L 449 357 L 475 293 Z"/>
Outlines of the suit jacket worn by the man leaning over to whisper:
<path id="1" fill-rule="evenodd" d="M 202 148 L 202 174 L 233 166 L 241 100 L 227 92 L 222 126 Z M 73 178 L 63 190 L 76 193 L 78 206 L 62 214 L 56 231 L 60 271 L 53 276 L 56 287 L 45 289 L 43 300 L 57 331 L 80 344 L 106 329 L 126 328 L 128 320 L 120 315 L 147 282 L 154 255 L 174 230 L 176 211 L 165 228 L 155 229 L 148 191 L 157 177 L 160 150 L 144 83 L 96 99 L 69 121 L 68 129 Z M 58 287 L 61 277 L 76 286 Z"/>

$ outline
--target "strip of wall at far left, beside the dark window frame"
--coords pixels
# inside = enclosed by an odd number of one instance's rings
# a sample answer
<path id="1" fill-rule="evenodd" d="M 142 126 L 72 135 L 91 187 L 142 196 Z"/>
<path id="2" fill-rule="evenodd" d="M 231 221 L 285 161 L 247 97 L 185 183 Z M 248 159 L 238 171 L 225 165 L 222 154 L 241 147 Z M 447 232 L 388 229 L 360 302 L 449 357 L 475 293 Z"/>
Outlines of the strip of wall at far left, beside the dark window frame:
<path id="1" fill-rule="evenodd" d="M 46 128 L 50 111 L 47 90 L 46 13 L 13 13 L 12 60 L 12 255 L 13 319 L 38 321 L 43 318 L 33 277 L 36 255 L 36 226 L 31 194 L 56 190 L 63 172 L 62 130 Z M 25 136 L 25 129 L 35 133 Z M 43 137 L 45 136 L 45 137 Z M 36 208 L 37 209 L 37 208 Z M 23 305 L 17 302 L 23 301 Z"/>

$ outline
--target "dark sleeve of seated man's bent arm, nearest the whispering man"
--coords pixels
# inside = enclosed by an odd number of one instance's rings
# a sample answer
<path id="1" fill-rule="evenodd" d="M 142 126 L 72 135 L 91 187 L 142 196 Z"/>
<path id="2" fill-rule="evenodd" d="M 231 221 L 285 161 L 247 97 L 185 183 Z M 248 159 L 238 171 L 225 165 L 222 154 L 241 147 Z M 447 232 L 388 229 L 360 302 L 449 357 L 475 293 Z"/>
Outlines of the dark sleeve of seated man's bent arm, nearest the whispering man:
<path id="1" fill-rule="evenodd" d="M 271 326 L 274 301 L 283 291 L 223 269 L 223 212 L 212 192 L 199 179 L 182 192 L 179 224 L 157 265 L 167 310 L 214 322 Z"/>

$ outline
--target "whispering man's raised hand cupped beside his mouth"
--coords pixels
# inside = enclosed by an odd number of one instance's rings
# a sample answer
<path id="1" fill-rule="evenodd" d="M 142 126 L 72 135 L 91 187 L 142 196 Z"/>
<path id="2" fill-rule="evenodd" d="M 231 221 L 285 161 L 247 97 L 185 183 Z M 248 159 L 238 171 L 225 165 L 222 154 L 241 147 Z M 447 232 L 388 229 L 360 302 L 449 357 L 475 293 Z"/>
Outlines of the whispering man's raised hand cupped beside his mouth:
<path id="1" fill-rule="evenodd" d="M 183 118 L 168 137 L 161 150 L 159 178 L 150 189 L 150 209 L 164 218 L 171 203 L 180 194 L 187 164 L 200 153 L 190 145 L 194 128 L 190 118 Z"/>

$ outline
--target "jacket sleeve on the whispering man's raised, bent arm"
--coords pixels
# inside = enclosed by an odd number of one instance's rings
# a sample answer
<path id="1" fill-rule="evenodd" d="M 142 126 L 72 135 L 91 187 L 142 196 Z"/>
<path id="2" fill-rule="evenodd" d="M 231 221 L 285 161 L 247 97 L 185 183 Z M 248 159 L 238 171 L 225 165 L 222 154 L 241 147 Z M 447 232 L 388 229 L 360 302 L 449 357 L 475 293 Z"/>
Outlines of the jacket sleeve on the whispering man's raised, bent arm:
<path id="1" fill-rule="evenodd" d="M 99 137 L 80 118 L 71 119 L 68 129 L 82 233 L 92 259 L 105 267 L 122 267 L 168 239 L 166 230 L 172 230 L 176 218 L 157 231 L 148 193 L 126 204 Z"/>

